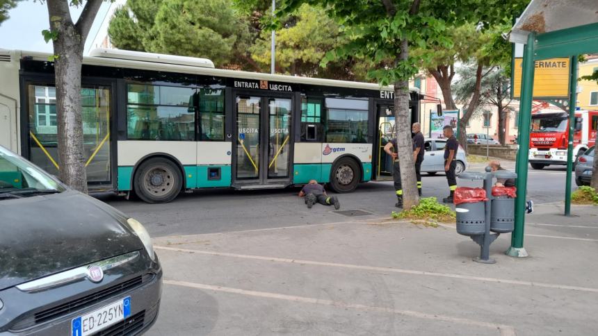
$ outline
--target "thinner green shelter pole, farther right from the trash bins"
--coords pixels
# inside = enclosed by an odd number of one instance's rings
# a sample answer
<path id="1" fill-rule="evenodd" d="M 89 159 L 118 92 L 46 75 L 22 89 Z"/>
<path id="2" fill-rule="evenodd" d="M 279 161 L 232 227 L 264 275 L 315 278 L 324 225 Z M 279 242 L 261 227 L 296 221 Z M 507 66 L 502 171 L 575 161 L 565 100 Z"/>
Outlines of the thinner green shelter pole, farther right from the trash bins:
<path id="1" fill-rule="evenodd" d="M 577 56 L 569 58 L 569 140 L 567 146 L 567 182 L 565 187 L 565 216 L 571 215 L 571 173 L 573 170 L 573 133 L 575 129 L 575 101 L 577 99 Z"/>

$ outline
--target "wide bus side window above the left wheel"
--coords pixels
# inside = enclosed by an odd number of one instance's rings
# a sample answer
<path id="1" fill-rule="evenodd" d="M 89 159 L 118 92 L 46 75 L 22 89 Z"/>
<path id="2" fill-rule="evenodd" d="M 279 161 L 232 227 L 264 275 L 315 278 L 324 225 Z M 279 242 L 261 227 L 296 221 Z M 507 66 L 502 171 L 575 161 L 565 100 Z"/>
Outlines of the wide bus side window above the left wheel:
<path id="1" fill-rule="evenodd" d="M 195 89 L 127 85 L 129 140 L 195 140 Z"/>

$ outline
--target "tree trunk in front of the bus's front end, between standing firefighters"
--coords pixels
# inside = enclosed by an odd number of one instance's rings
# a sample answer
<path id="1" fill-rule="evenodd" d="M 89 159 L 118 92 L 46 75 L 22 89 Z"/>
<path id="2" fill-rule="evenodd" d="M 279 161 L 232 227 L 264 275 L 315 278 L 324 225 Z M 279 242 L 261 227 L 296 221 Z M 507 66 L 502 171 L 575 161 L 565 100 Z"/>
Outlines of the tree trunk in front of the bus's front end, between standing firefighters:
<path id="1" fill-rule="evenodd" d="M 407 40 L 401 41 L 398 61 L 405 62 L 408 56 Z M 401 185 L 403 185 L 403 208 L 410 209 L 419 205 L 413 145 L 411 140 L 411 113 L 409 109 L 409 81 L 401 79 L 394 83 L 394 113 L 396 125 L 396 147 L 398 164 L 401 167 Z"/>

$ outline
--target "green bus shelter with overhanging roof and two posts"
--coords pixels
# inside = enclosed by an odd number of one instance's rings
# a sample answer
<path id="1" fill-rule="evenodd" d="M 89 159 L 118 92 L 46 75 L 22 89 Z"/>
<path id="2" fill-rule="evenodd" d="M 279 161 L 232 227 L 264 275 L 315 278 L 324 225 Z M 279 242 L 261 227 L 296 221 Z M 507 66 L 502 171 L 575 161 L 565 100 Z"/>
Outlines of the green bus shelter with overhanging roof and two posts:
<path id="1" fill-rule="evenodd" d="M 567 151 L 567 189 L 565 190 L 565 215 L 569 215 L 577 60 L 579 55 L 598 53 L 597 13 L 598 0 L 532 0 L 510 32 L 510 42 L 525 45 L 519 105 L 515 230 L 512 233 L 511 246 L 507 251 L 507 254 L 512 257 L 528 255 L 524 249 L 524 227 L 535 61 L 547 58 L 570 58 L 569 146 Z"/>

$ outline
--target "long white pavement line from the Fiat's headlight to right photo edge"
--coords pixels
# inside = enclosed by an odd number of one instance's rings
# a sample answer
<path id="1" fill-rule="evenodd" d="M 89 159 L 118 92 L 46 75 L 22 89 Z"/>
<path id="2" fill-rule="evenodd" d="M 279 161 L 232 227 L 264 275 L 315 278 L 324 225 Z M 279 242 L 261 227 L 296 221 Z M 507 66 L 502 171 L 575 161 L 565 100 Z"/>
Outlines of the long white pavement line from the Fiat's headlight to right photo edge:
<path id="1" fill-rule="evenodd" d="M 553 288 L 553 289 L 570 289 L 570 290 L 576 290 L 576 291 L 581 291 L 581 292 L 598 293 L 598 288 L 577 287 L 577 286 L 569 286 L 569 285 L 556 285 L 556 284 L 551 284 L 551 283 L 534 283 L 531 281 L 509 280 L 509 279 L 500 279 L 500 278 L 486 278 L 483 276 L 466 276 L 466 275 L 462 275 L 462 274 L 416 271 L 413 269 L 398 269 L 398 268 L 394 268 L 394 267 L 376 267 L 376 266 L 364 266 L 364 265 L 358 265 L 358 264 L 339 264 L 337 262 L 321 262 L 321 261 L 313 261 L 313 260 L 264 257 L 261 255 L 245 255 L 245 254 L 225 253 L 225 252 L 216 252 L 216 251 L 179 249 L 179 248 L 175 248 L 175 247 L 166 247 L 166 246 L 154 246 L 154 249 L 186 252 L 186 253 L 197 253 L 197 254 L 204 254 L 204 255 L 217 255 L 217 256 L 230 257 L 230 258 L 243 258 L 243 259 L 252 259 L 252 260 L 286 262 L 289 264 L 309 264 L 309 265 L 316 265 L 316 266 L 341 267 L 341 268 L 346 268 L 346 269 L 362 269 L 362 270 L 366 270 L 366 271 L 381 271 L 381 272 L 392 272 L 392 273 L 401 273 L 401 274 L 412 274 L 412 275 L 416 275 L 416 276 L 437 276 L 437 277 L 441 277 L 441 278 L 477 280 L 477 281 L 486 281 L 486 282 L 490 282 L 490 283 L 508 283 L 511 285 L 524 285 L 524 286 L 531 286 L 531 287 L 545 287 L 545 288 Z"/>

